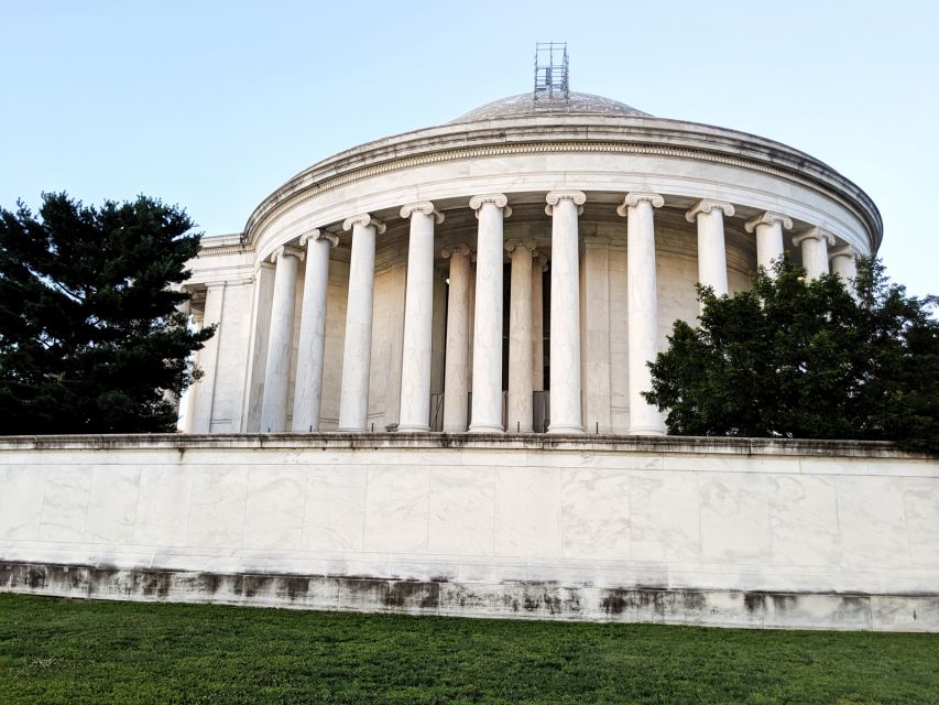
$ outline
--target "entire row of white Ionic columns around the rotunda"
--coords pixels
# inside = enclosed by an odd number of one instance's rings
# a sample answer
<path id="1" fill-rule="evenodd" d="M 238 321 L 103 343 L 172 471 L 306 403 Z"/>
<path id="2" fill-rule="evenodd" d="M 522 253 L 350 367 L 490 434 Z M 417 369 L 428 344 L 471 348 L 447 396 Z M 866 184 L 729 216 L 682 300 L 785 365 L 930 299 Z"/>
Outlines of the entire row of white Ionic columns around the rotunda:
<path id="1" fill-rule="evenodd" d="M 555 191 L 546 196 L 552 217 L 550 296 L 550 425 L 548 433 L 582 433 L 580 378 L 580 284 L 578 218 L 586 195 Z M 503 238 L 503 220 L 512 209 L 504 194 L 473 196 L 469 203 L 479 221 L 476 243 L 476 291 L 472 321 L 472 411 L 469 432 L 501 433 L 503 258 L 511 258 L 509 393 L 506 422 L 512 431 L 532 431 L 532 392 L 542 387 L 543 354 L 542 272 L 545 258 L 535 242 Z M 642 397 L 651 388 L 646 365 L 658 352 L 658 296 L 656 289 L 654 210 L 664 205 L 655 193 L 630 193 L 618 213 L 626 218 L 627 245 L 627 348 L 630 433 L 660 434 L 665 426 L 658 410 Z M 728 293 L 727 248 L 723 218 L 734 215 L 731 204 L 702 199 L 686 213 L 698 228 L 698 280 L 718 295 Z M 444 220 L 430 202 L 408 204 L 401 217 L 410 219 L 407 284 L 405 291 L 404 349 L 401 381 L 401 431 L 429 431 L 430 358 L 434 285 L 434 231 Z M 339 431 L 364 431 L 368 422 L 371 371 L 372 300 L 375 238 L 385 225 L 370 214 L 348 218 L 352 230 L 349 293 L 346 314 L 345 358 L 339 402 Z M 766 212 L 745 224 L 755 232 L 757 264 L 772 272 L 782 257 L 783 230 L 791 220 Z M 286 400 L 294 301 L 299 263 L 306 260 L 299 351 L 294 391 L 293 431 L 317 431 L 323 398 L 323 361 L 326 339 L 326 294 L 329 250 L 337 237 L 313 230 L 299 248 L 281 247 L 272 256 L 276 264 L 271 329 L 264 375 L 262 431 L 286 427 Z M 833 238 L 820 230 L 798 235 L 802 262 L 809 278 L 831 269 L 844 279 L 856 275 L 854 251 L 840 248 L 829 253 Z M 305 250 L 304 250 L 305 248 Z M 443 251 L 449 260 L 444 431 L 467 431 L 469 390 L 470 259 L 467 245 Z M 535 307 L 537 306 L 537 311 Z M 537 328 L 537 329 L 536 329 Z"/>

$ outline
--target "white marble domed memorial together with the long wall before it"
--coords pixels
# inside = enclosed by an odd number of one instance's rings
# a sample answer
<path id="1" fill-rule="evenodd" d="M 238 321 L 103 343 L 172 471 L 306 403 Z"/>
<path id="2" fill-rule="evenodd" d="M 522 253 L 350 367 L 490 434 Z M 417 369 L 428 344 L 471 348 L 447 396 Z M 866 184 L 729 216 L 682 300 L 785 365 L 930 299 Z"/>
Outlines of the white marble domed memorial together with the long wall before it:
<path id="1" fill-rule="evenodd" d="M 641 395 L 697 282 L 784 252 L 851 279 L 874 204 L 778 142 L 541 78 L 205 238 L 189 433 L 0 442 L 0 589 L 939 631 L 936 460 L 663 436 Z"/>

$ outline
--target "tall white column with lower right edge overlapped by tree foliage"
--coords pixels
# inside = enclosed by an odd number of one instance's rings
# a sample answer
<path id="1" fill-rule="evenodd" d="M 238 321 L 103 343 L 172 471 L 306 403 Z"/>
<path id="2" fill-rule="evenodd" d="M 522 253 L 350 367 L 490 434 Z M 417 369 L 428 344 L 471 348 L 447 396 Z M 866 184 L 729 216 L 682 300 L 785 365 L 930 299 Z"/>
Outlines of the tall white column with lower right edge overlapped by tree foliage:
<path id="1" fill-rule="evenodd" d="M 637 435 L 665 433 L 665 422 L 642 395 L 652 389 L 647 362 L 658 354 L 658 291 L 655 282 L 655 221 L 658 194 L 631 193 L 616 212 L 626 216 L 626 288 L 630 350 L 630 430 Z"/>

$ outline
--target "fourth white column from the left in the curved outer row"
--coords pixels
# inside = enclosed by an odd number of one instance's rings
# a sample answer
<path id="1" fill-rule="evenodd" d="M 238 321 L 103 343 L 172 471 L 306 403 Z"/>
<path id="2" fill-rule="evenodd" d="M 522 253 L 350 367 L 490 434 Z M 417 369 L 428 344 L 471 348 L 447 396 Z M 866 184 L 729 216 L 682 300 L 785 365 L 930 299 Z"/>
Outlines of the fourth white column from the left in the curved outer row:
<path id="1" fill-rule="evenodd" d="M 434 225 L 444 216 L 429 200 L 404 206 L 411 218 L 398 431 L 430 431 L 430 337 L 434 327 Z"/>

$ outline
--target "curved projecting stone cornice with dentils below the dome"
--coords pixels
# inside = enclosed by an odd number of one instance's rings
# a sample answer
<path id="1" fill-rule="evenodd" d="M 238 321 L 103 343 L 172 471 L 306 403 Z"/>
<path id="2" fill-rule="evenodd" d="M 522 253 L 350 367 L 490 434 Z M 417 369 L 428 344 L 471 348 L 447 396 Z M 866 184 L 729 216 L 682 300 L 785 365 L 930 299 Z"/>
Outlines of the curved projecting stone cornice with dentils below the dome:
<path id="1" fill-rule="evenodd" d="M 827 164 L 744 132 L 647 118 L 509 120 L 500 129 L 476 123 L 441 126 L 370 142 L 324 160 L 285 183 L 255 208 L 243 238 L 253 242 L 275 213 L 360 178 L 424 164 L 558 152 L 674 156 L 778 176 L 818 191 L 854 213 L 866 225 L 873 248 L 880 246 L 883 224 L 873 200 Z"/>

